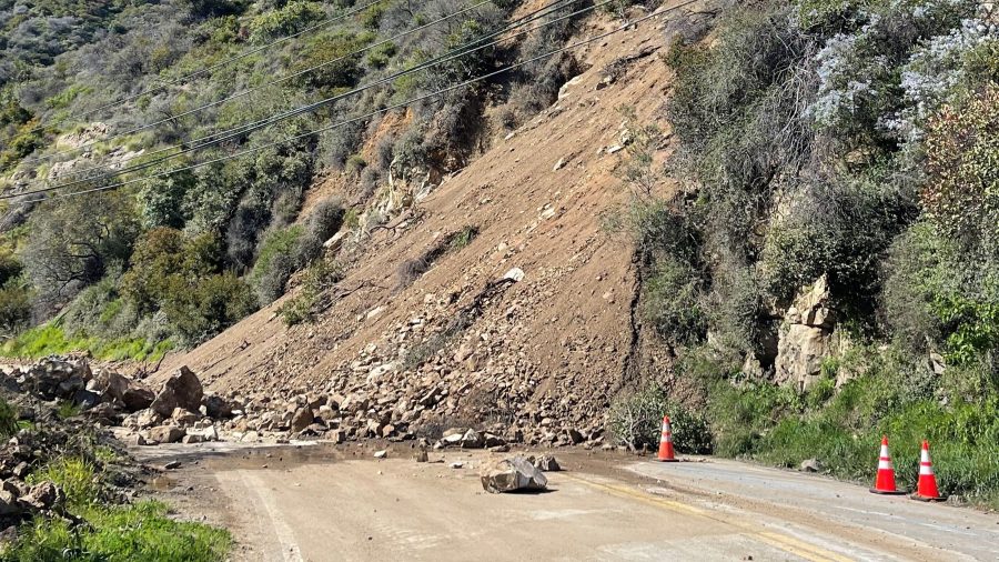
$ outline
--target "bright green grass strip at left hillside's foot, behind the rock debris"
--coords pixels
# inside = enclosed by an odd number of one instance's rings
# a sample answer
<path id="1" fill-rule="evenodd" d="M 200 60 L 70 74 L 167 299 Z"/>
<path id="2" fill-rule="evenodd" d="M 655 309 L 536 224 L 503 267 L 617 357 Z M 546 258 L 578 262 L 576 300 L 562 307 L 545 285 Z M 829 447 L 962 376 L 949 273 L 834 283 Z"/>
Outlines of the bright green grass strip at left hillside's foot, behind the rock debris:
<path id="1" fill-rule="evenodd" d="M 73 351 L 89 351 L 105 361 L 159 361 L 172 350 L 171 340 L 150 342 L 138 338 L 104 340 L 88 335 L 69 335 L 54 322 L 32 328 L 0 347 L 0 357 L 41 358 Z"/>

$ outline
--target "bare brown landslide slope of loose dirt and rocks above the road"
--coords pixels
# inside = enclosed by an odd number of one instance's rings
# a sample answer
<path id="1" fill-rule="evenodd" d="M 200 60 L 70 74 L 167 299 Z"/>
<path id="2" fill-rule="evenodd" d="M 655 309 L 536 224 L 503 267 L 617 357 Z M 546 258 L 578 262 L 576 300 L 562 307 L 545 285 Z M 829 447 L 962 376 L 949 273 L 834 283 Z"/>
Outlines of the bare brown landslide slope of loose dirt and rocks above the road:
<path id="1" fill-rule="evenodd" d="M 616 26 L 595 18 L 579 37 Z M 627 198 L 615 175 L 627 158 L 615 108 L 628 104 L 639 119 L 654 119 L 669 83 L 659 59 L 663 29 L 652 20 L 578 49 L 588 70 L 553 107 L 497 139 L 411 214 L 372 232 L 340 285 L 353 292 L 315 323 L 285 328 L 275 317 L 279 301 L 169 358 L 154 377 L 188 364 L 222 391 L 354 393 L 372 408 L 398 405 L 393 420 L 403 423 L 528 420 L 546 428 L 528 441 L 578 441 L 569 429 L 598 438 L 633 345 L 637 287 L 630 243 L 601 227 Z M 597 88 L 608 64 L 643 51 L 619 79 Z M 471 244 L 398 287 L 401 263 L 465 225 L 478 229 Z M 522 281 L 483 294 L 514 268 Z M 467 325 L 440 337 L 461 311 Z M 416 348 L 441 349 L 416 368 L 405 361 Z M 425 408 L 406 413 L 421 399 Z"/>

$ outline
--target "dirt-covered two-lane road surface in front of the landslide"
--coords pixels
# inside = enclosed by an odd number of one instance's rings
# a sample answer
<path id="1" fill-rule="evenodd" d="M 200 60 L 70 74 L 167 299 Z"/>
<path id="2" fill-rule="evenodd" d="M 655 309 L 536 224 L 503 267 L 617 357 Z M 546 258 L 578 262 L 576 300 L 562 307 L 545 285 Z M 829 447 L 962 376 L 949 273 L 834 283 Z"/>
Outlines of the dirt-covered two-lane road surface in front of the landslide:
<path id="1" fill-rule="evenodd" d="M 232 450 L 208 456 L 160 448 L 151 462 L 182 460 L 162 494 L 232 529 L 235 560 L 999 556 L 995 514 L 730 461 L 558 452 L 567 470 L 548 473 L 549 492 L 496 495 L 477 475 L 487 453 L 432 452 L 417 463 L 408 448 L 374 460 L 361 448 L 223 446 Z"/>

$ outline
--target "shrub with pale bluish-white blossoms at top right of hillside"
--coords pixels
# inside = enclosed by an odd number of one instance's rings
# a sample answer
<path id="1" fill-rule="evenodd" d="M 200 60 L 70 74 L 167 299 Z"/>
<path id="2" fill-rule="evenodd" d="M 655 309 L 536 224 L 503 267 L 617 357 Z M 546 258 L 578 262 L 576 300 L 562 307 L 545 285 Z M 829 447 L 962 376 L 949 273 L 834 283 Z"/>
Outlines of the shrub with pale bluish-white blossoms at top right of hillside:
<path id="1" fill-rule="evenodd" d="M 815 9 L 799 24 L 817 17 Z M 919 140 L 921 123 L 963 80 L 961 59 L 988 40 L 975 0 L 892 0 L 842 17 L 815 57 L 815 124 L 875 143 Z"/>

